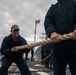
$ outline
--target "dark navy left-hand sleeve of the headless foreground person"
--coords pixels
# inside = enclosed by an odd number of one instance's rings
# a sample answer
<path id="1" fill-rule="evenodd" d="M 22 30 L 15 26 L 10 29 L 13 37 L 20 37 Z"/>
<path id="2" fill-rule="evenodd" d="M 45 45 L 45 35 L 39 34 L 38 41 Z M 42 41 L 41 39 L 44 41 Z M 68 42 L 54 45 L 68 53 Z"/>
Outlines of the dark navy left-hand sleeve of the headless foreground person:
<path id="1" fill-rule="evenodd" d="M 45 16 L 44 27 L 48 37 L 50 37 L 51 32 L 56 31 L 54 27 L 54 15 L 53 15 L 53 6 L 51 6 Z"/>

